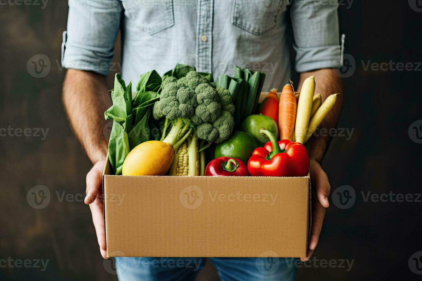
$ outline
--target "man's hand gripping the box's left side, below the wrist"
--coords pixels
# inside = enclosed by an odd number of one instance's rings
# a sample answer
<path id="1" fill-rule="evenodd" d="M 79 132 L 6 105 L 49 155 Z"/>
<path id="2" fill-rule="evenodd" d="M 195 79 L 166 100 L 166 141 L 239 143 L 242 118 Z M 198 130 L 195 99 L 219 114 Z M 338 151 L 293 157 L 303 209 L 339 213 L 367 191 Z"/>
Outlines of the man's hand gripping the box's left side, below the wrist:
<path id="1" fill-rule="evenodd" d="M 97 233 L 100 253 L 103 258 L 106 259 L 106 234 L 104 233 L 102 200 L 103 191 L 101 189 L 103 168 L 105 163 L 106 161 L 104 160 L 98 161 L 87 174 L 87 197 L 85 197 L 85 204 L 89 204 L 89 209 L 91 209 L 92 222 L 94 223 L 95 232 Z"/>

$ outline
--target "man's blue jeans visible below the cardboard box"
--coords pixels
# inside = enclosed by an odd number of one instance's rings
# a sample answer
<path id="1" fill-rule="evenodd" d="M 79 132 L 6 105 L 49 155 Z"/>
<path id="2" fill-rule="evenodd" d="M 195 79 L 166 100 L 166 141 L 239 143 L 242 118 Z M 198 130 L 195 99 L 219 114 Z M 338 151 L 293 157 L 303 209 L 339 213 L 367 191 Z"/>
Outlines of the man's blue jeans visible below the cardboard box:
<path id="1" fill-rule="evenodd" d="M 214 257 L 210 258 L 222 281 L 296 279 L 295 259 Z M 205 266 L 205 258 L 116 257 L 119 281 L 194 280 Z"/>

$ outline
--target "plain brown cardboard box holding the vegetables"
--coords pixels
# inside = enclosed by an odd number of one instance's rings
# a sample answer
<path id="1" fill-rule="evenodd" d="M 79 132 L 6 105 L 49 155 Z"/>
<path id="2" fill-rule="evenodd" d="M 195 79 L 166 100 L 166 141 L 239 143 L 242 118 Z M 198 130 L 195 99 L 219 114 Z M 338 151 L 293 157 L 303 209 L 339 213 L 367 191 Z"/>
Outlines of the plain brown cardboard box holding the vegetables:
<path id="1" fill-rule="evenodd" d="M 107 257 L 306 257 L 307 177 L 103 172 Z"/>

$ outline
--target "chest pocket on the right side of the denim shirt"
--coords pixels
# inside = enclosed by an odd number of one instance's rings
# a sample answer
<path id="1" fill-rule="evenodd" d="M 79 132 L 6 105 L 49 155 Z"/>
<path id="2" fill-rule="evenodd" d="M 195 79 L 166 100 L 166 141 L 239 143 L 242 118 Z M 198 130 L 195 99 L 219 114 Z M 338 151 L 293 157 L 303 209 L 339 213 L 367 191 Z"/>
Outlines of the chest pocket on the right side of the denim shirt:
<path id="1" fill-rule="evenodd" d="M 276 26 L 288 0 L 233 0 L 232 24 L 253 35 L 262 35 Z"/>

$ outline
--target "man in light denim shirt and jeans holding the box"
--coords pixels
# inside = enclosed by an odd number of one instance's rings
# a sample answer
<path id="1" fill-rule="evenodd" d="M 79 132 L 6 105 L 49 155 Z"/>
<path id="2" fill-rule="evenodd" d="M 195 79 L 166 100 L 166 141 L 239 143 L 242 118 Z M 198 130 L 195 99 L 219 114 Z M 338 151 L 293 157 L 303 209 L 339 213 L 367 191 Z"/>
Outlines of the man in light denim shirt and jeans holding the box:
<path id="1" fill-rule="evenodd" d="M 314 75 L 315 92 L 323 99 L 342 92 L 339 67 L 338 4 L 325 0 L 69 0 L 68 30 L 63 44 L 66 73 L 63 102 L 71 126 L 94 166 L 87 174 L 87 197 L 101 255 L 106 258 L 101 174 L 107 154 L 103 136 L 104 111 L 111 99 L 105 76 L 122 31 L 122 78 L 137 83 L 139 75 L 155 69 L 161 75 L 176 63 L 193 64 L 197 71 L 233 75 L 238 65 L 266 73 L 264 91 L 281 88 L 290 78 L 289 44 L 294 41 L 296 70 L 303 80 Z M 124 9 L 124 11 L 123 11 Z M 293 37 L 289 34 L 289 21 Z M 104 65 L 106 67 L 104 67 Z M 341 95 L 322 126 L 333 128 L 341 108 Z M 329 206 L 330 184 L 321 168 L 327 137 L 310 144 L 313 212 L 308 260 L 318 243 Z M 116 258 L 126 269 L 119 279 L 186 280 L 198 268 L 143 266 L 135 258 Z M 150 260 L 153 258 L 142 258 Z M 295 268 L 279 259 L 272 274 L 255 258 L 211 259 L 222 280 L 294 280 Z M 138 265 L 138 266 L 136 266 Z"/>

